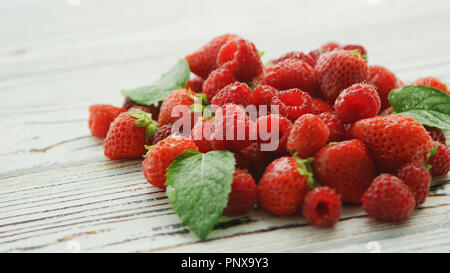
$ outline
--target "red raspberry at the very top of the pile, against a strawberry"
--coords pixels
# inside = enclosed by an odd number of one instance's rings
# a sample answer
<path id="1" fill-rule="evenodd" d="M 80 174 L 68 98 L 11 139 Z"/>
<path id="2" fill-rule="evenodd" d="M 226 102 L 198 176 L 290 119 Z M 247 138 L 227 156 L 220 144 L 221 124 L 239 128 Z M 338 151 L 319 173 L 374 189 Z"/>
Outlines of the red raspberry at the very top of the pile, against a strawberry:
<path id="1" fill-rule="evenodd" d="M 229 69 L 239 81 L 251 81 L 263 72 L 255 45 L 242 38 L 226 43 L 217 55 L 217 65 Z"/>

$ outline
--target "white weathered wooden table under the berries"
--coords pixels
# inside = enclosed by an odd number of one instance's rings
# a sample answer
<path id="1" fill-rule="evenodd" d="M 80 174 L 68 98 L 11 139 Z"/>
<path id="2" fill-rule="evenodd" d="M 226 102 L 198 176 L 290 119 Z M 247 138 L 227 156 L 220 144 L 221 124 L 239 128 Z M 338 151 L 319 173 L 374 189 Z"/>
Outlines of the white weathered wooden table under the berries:
<path id="1" fill-rule="evenodd" d="M 106 160 L 90 136 L 90 104 L 120 105 L 120 89 L 226 32 L 266 61 L 337 40 L 362 43 L 405 82 L 450 82 L 448 1 L 343 2 L 0 1 L 0 252 L 449 252 L 448 186 L 401 224 L 345 207 L 334 229 L 317 229 L 255 210 L 199 242 L 140 161 Z"/>

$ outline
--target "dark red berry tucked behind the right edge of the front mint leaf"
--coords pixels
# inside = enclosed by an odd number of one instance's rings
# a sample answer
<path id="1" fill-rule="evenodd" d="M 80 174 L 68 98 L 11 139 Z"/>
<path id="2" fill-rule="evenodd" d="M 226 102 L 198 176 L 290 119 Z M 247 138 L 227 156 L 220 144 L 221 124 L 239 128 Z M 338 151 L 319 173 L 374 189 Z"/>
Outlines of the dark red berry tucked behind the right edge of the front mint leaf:
<path id="1" fill-rule="evenodd" d="M 226 215 L 245 214 L 256 205 L 256 202 L 255 180 L 246 171 L 236 169 L 233 174 L 228 204 L 223 213 Z"/>

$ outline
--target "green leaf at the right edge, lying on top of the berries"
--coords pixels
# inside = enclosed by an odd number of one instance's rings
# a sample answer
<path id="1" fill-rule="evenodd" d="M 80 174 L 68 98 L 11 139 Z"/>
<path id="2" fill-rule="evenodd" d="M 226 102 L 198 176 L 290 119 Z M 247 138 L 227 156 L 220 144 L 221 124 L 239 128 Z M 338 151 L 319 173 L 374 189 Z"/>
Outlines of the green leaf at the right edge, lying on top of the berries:
<path id="1" fill-rule="evenodd" d="M 422 125 L 450 130 L 450 96 L 438 89 L 409 85 L 389 93 L 396 114 L 413 117 Z"/>

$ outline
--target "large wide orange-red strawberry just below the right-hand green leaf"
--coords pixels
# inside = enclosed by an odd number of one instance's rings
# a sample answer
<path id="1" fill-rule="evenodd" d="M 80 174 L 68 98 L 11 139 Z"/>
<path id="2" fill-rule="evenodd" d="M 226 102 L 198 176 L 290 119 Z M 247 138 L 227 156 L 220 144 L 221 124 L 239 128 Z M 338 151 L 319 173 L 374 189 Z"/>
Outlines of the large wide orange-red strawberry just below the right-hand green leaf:
<path id="1" fill-rule="evenodd" d="M 353 125 L 352 135 L 366 144 L 382 172 L 395 172 L 410 162 L 423 163 L 433 148 L 425 128 L 404 115 L 360 120 Z"/>

